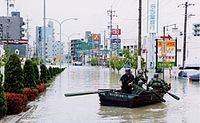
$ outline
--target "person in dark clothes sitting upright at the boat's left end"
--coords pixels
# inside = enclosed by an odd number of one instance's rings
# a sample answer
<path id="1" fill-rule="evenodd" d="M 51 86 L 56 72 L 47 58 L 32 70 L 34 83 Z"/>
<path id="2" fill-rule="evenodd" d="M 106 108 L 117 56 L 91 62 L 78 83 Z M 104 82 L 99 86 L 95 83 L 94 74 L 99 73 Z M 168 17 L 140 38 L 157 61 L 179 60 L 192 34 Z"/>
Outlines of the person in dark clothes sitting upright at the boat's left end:
<path id="1" fill-rule="evenodd" d="M 120 83 L 121 85 L 121 90 L 124 93 L 132 93 L 132 84 L 134 81 L 134 75 L 131 72 L 131 68 L 127 67 L 125 68 L 125 74 L 121 76 L 120 78 Z"/>

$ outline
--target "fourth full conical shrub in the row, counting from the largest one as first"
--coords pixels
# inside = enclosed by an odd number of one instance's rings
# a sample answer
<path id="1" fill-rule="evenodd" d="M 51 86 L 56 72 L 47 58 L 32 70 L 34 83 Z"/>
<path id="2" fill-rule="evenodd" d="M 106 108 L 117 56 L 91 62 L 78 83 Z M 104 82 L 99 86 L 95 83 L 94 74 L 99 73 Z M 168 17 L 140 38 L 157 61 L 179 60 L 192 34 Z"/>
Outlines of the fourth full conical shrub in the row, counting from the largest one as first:
<path id="1" fill-rule="evenodd" d="M 47 67 L 44 64 L 40 65 L 40 81 L 47 83 Z"/>

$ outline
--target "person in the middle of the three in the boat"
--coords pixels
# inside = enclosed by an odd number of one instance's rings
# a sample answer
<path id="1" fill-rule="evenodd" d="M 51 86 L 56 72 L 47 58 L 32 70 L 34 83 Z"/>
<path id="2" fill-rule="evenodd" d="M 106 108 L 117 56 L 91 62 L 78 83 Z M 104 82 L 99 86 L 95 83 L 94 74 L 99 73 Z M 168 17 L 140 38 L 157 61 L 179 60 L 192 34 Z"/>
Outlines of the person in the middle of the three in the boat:
<path id="1" fill-rule="evenodd" d="M 147 76 L 146 72 L 143 72 L 142 69 L 139 69 L 137 71 L 137 75 L 134 80 L 135 84 L 142 87 L 142 85 L 147 83 L 147 81 L 148 81 L 148 76 Z"/>

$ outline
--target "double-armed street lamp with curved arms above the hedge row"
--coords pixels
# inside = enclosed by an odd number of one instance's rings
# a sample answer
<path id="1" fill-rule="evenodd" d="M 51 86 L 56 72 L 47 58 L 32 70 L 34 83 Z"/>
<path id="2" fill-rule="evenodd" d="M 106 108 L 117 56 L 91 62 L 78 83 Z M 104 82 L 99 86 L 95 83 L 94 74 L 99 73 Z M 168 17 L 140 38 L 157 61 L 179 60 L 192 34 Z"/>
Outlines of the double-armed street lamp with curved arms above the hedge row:
<path id="1" fill-rule="evenodd" d="M 62 20 L 62 21 L 58 21 L 56 19 L 53 19 L 53 18 L 46 18 L 46 19 L 49 19 L 49 20 L 53 20 L 55 22 L 57 22 L 59 24 L 59 34 L 60 34 L 60 58 L 59 58 L 59 62 L 60 62 L 60 68 L 61 68 L 61 38 L 62 38 L 62 24 L 68 20 L 78 20 L 78 18 L 68 18 L 68 19 L 65 19 L 65 20 Z"/>

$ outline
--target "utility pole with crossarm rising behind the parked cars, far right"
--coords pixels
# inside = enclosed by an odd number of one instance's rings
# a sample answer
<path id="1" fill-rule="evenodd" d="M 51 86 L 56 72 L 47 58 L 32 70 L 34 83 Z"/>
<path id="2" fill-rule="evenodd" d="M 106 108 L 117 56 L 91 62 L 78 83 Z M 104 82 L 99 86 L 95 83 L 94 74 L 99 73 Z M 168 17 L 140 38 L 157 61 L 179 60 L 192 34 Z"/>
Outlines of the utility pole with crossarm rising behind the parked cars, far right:
<path id="1" fill-rule="evenodd" d="M 185 61 L 186 61 L 186 39 L 187 39 L 187 17 L 188 17 L 188 14 L 187 14 L 187 9 L 189 6 L 193 5 L 194 4 L 189 4 L 188 2 L 185 2 L 185 4 L 181 4 L 185 7 L 185 17 L 184 17 L 184 34 L 183 34 L 183 65 L 182 67 L 184 68 L 185 67 Z M 179 5 L 180 6 L 180 5 Z M 179 7 L 178 6 L 178 7 Z"/>

